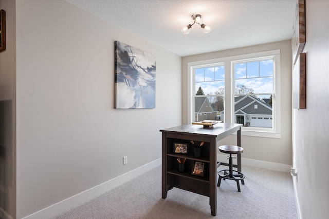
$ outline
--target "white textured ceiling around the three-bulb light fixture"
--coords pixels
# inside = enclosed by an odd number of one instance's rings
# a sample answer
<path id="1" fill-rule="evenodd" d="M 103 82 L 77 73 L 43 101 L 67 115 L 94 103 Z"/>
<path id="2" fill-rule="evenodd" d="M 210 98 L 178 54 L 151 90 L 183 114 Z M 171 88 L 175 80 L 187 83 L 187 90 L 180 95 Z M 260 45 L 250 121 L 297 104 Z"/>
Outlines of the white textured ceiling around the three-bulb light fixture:
<path id="1" fill-rule="evenodd" d="M 179 56 L 291 39 L 296 0 L 66 0 Z M 212 27 L 180 32 L 200 13 Z M 124 42 L 123 42 L 124 43 Z"/>

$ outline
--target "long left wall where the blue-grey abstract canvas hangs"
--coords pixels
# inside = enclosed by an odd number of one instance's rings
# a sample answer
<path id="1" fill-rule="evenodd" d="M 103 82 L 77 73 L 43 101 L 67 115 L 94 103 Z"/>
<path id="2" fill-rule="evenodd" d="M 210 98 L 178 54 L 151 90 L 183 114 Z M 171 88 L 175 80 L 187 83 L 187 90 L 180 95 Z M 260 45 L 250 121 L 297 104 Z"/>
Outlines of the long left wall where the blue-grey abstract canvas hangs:
<path id="1" fill-rule="evenodd" d="M 64 1 L 16 1 L 16 33 L 17 218 L 161 157 L 181 57 Z M 156 56 L 155 109 L 114 109 L 116 40 Z"/>

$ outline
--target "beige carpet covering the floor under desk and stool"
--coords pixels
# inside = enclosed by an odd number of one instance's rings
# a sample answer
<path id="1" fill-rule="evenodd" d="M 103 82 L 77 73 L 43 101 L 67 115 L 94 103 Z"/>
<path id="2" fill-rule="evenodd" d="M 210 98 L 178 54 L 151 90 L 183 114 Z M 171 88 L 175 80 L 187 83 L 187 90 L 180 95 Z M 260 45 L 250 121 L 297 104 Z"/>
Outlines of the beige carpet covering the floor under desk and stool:
<path id="1" fill-rule="evenodd" d="M 222 181 L 217 187 L 216 216 L 203 195 L 173 188 L 162 199 L 157 167 L 55 218 L 297 218 L 289 173 L 248 166 L 242 170 L 246 178 L 241 192 L 235 181 Z"/>

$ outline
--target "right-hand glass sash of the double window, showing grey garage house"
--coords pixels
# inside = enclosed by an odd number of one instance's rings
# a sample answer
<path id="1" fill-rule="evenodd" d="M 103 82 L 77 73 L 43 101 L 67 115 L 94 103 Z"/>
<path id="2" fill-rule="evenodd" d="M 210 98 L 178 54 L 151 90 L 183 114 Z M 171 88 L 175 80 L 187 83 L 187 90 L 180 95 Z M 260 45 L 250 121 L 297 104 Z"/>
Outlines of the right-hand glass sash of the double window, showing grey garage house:
<path id="1" fill-rule="evenodd" d="M 245 127 L 272 129 L 269 121 L 257 121 L 253 116 L 273 116 L 274 57 L 248 58 L 232 62 L 234 73 L 234 123 Z M 253 108 L 249 105 L 253 104 Z M 241 119 L 241 114 L 246 120 Z M 262 120 L 263 117 L 258 117 Z"/>

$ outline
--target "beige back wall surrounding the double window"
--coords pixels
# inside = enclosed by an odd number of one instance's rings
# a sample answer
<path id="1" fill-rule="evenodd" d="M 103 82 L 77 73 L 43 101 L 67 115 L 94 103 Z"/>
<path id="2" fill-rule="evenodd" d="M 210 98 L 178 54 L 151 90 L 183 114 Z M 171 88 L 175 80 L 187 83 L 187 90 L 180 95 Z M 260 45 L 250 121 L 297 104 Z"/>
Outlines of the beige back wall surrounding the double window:
<path id="1" fill-rule="evenodd" d="M 277 49 L 280 49 L 281 52 L 281 138 L 242 136 L 242 146 L 245 149 L 243 152 L 243 157 L 253 161 L 264 161 L 266 164 L 269 165 L 271 163 L 276 163 L 279 164 L 279 166 L 283 166 L 283 169 L 289 169 L 289 165 L 292 164 L 290 40 L 184 57 L 182 59 L 182 119 L 183 123 L 187 122 L 187 65 L 189 62 L 203 61 L 207 59 L 229 57 L 255 52 L 264 52 Z M 224 140 L 221 140 L 221 142 L 219 142 L 218 144 L 232 144 L 232 142 L 236 142 L 236 135 L 228 136 L 224 138 Z M 251 163 L 249 163 L 249 165 L 251 165 Z"/>

